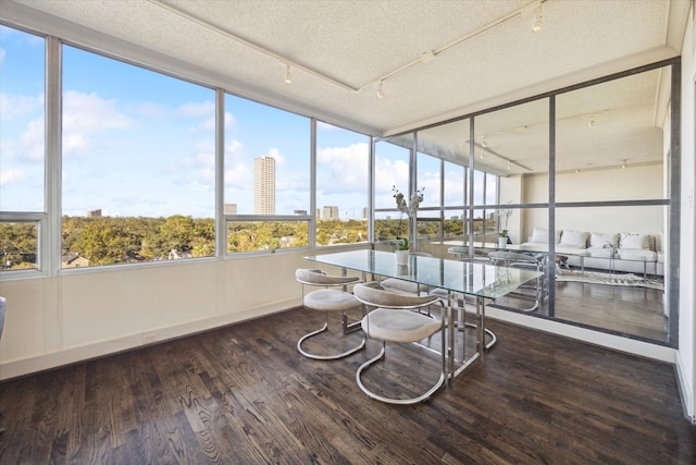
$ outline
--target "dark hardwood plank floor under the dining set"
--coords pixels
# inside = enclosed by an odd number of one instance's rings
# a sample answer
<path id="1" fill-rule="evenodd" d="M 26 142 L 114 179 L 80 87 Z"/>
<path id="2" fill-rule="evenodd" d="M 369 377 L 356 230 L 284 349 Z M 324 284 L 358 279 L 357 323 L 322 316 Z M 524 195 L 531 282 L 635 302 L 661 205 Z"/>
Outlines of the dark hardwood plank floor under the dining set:
<path id="1" fill-rule="evenodd" d="M 321 321 L 291 309 L 4 381 L 0 463 L 696 461 L 670 365 L 489 320 L 498 344 L 482 364 L 426 403 L 394 406 L 355 381 L 377 342 L 337 362 L 300 356 L 297 340 Z M 433 369 L 434 354 L 389 346 L 368 378 L 409 390 Z"/>

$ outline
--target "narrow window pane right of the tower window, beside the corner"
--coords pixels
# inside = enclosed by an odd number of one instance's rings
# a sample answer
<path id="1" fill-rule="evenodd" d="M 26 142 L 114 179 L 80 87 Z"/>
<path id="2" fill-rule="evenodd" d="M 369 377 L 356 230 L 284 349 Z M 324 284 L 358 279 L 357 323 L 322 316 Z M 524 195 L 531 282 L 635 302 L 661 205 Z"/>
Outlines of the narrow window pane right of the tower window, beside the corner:
<path id="1" fill-rule="evenodd" d="M 316 124 L 316 245 L 368 241 L 370 138 Z"/>

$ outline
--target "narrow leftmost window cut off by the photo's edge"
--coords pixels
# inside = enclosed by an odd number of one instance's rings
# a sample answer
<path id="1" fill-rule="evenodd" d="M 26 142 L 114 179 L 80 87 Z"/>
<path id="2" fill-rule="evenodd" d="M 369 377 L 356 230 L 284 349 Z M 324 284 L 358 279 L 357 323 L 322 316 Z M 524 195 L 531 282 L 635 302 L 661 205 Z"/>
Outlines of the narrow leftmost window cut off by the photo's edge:
<path id="1" fill-rule="evenodd" d="M 5 26 L 0 39 L 0 270 L 34 269 L 46 224 L 46 41 Z"/>

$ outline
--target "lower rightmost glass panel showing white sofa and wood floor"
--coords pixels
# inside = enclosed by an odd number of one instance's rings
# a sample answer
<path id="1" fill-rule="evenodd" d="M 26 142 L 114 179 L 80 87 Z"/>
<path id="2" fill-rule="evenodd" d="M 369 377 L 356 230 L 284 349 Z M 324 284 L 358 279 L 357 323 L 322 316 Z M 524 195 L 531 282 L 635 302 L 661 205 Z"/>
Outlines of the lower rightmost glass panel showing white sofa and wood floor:
<path id="1" fill-rule="evenodd" d="M 556 273 L 555 316 L 668 341 L 667 212 L 666 206 L 557 208 L 556 255 L 567 256 L 568 267 Z M 582 256 L 570 248 L 577 242 Z"/>

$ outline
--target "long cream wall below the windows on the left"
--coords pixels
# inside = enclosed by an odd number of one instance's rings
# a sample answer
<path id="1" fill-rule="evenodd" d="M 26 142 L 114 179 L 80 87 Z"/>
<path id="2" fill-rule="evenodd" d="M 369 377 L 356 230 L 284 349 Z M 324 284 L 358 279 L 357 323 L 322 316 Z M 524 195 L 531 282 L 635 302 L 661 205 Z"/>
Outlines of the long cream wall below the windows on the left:
<path id="1" fill-rule="evenodd" d="M 304 253 L 307 253 L 304 250 Z M 116 266 L 0 282 L 0 379 L 300 305 L 299 254 Z"/>

